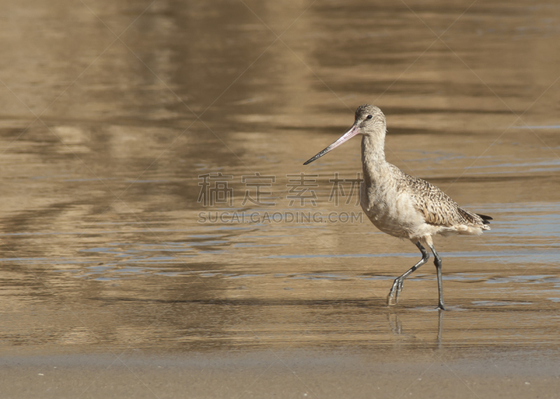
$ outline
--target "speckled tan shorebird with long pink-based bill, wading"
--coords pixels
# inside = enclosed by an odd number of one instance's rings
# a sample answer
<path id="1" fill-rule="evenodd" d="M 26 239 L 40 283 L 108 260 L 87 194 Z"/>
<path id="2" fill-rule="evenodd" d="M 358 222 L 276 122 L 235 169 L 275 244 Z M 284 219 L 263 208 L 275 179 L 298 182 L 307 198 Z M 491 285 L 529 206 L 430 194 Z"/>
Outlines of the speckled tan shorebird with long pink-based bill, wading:
<path id="1" fill-rule="evenodd" d="M 377 107 L 359 106 L 349 131 L 325 150 L 309 159 L 307 165 L 338 147 L 357 134 L 362 135 L 362 166 L 364 182 L 360 186 L 360 205 L 375 227 L 384 233 L 411 240 L 422 259 L 406 273 L 397 277 L 387 296 L 387 305 L 395 304 L 402 291 L 402 282 L 414 270 L 430 259 L 424 245 L 435 257 L 437 271 L 438 307 L 444 310 L 442 287 L 442 259 L 433 247 L 433 235 L 479 235 L 489 230 L 485 215 L 477 215 L 463 208 L 443 191 L 425 180 L 412 177 L 385 160 L 385 115 Z"/>

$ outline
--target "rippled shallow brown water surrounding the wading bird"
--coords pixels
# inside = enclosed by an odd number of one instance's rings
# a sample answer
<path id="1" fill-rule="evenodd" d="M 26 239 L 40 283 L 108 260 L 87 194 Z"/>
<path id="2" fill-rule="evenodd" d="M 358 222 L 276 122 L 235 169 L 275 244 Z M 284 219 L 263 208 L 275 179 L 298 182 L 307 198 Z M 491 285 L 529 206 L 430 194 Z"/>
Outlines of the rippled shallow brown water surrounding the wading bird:
<path id="1" fill-rule="evenodd" d="M 3 350 L 560 344 L 560 6 L 26 4 L 0 13 Z M 442 317 L 431 263 L 386 307 L 419 254 L 348 220 L 349 182 L 329 201 L 335 173 L 360 171 L 359 140 L 302 166 L 366 102 L 387 116 L 389 161 L 493 217 L 481 237 L 435 241 Z M 231 205 L 197 201 L 208 173 L 232 176 Z M 274 205 L 244 203 L 255 173 L 275 177 Z M 299 173 L 316 175 L 303 206 Z"/>

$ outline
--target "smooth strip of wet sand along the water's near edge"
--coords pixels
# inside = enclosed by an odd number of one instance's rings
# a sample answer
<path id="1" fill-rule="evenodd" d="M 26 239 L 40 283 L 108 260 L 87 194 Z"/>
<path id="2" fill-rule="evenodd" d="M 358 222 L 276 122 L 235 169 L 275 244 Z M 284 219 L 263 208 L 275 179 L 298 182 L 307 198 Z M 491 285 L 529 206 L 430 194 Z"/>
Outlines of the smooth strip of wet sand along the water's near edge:
<path id="1" fill-rule="evenodd" d="M 557 356 L 408 355 L 7 356 L 0 388 L 6 398 L 556 398 L 560 388 Z"/>

